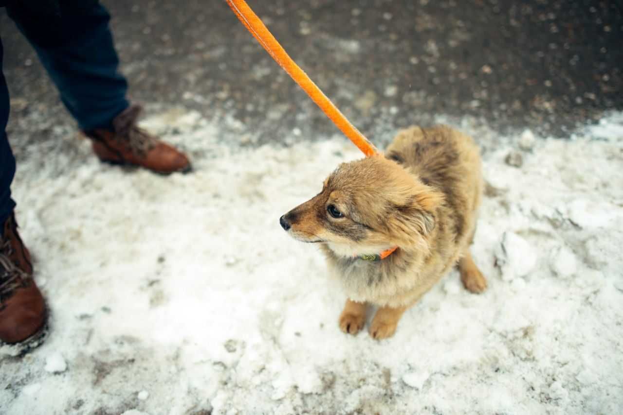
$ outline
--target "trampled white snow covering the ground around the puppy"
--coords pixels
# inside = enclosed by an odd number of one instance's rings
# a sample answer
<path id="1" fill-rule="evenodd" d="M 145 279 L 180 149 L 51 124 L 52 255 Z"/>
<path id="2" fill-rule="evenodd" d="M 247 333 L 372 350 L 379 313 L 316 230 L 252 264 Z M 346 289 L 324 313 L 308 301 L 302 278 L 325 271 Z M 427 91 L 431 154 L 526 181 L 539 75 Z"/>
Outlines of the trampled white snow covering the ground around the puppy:
<path id="1" fill-rule="evenodd" d="M 621 413 L 623 114 L 569 140 L 459 123 L 484 153 L 488 291 L 453 271 L 381 342 L 340 332 L 320 253 L 278 225 L 361 157 L 350 142 L 245 147 L 244 126 L 180 110 L 144 124 L 193 174 L 100 164 L 73 131 L 11 138 L 51 317 L 36 350 L 0 349 L 0 413 Z"/>

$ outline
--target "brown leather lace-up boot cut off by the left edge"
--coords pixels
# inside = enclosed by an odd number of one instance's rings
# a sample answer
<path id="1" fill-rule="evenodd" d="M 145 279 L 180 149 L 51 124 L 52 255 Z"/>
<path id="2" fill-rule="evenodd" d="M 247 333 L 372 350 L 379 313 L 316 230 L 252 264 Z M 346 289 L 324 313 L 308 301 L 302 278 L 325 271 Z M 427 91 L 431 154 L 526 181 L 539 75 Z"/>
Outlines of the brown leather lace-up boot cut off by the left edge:
<path id="1" fill-rule="evenodd" d="M 32 279 L 31 255 L 11 213 L 0 235 L 0 341 L 18 343 L 35 337 L 46 319 L 43 296 Z"/>

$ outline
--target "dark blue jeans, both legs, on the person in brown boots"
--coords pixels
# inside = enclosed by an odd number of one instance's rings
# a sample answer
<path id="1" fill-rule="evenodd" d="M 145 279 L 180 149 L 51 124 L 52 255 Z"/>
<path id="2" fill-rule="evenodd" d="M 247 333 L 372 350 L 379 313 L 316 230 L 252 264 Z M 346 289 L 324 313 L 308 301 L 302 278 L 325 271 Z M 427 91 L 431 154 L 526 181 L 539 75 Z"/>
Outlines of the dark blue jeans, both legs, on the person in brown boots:
<path id="1" fill-rule="evenodd" d="M 36 50 L 79 128 L 110 128 L 129 103 L 127 82 L 117 72 L 108 11 L 98 1 L 61 0 L 54 14 L 17 5 L 7 6 L 7 12 Z M 2 52 L 0 40 L 0 225 L 15 207 L 11 198 L 15 158 L 5 132 L 9 91 L 1 71 Z"/>

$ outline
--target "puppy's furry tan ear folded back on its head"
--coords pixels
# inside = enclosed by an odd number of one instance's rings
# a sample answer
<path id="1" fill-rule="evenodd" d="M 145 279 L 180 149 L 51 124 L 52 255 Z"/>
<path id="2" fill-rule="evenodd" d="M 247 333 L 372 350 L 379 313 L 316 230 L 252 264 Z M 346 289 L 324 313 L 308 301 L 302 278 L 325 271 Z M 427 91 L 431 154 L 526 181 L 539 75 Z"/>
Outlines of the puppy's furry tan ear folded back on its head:
<path id="1" fill-rule="evenodd" d="M 435 210 L 443 201 L 440 192 L 419 185 L 404 203 L 394 205 L 386 219 L 389 233 L 402 241 L 413 243 L 435 228 Z"/>

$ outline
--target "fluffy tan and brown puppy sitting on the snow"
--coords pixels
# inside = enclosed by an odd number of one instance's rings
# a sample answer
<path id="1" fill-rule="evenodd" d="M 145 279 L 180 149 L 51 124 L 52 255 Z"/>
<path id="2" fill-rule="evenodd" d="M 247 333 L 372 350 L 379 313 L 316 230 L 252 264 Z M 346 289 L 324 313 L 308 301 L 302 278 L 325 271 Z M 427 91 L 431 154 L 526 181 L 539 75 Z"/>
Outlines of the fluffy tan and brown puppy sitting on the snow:
<path id="1" fill-rule="evenodd" d="M 379 307 L 370 335 L 387 338 L 455 264 L 468 291 L 487 287 L 469 251 L 482 189 L 472 138 L 446 126 L 412 127 L 385 156 L 341 164 L 280 224 L 293 238 L 320 244 L 348 296 L 340 329 L 358 333 L 369 303 Z"/>

